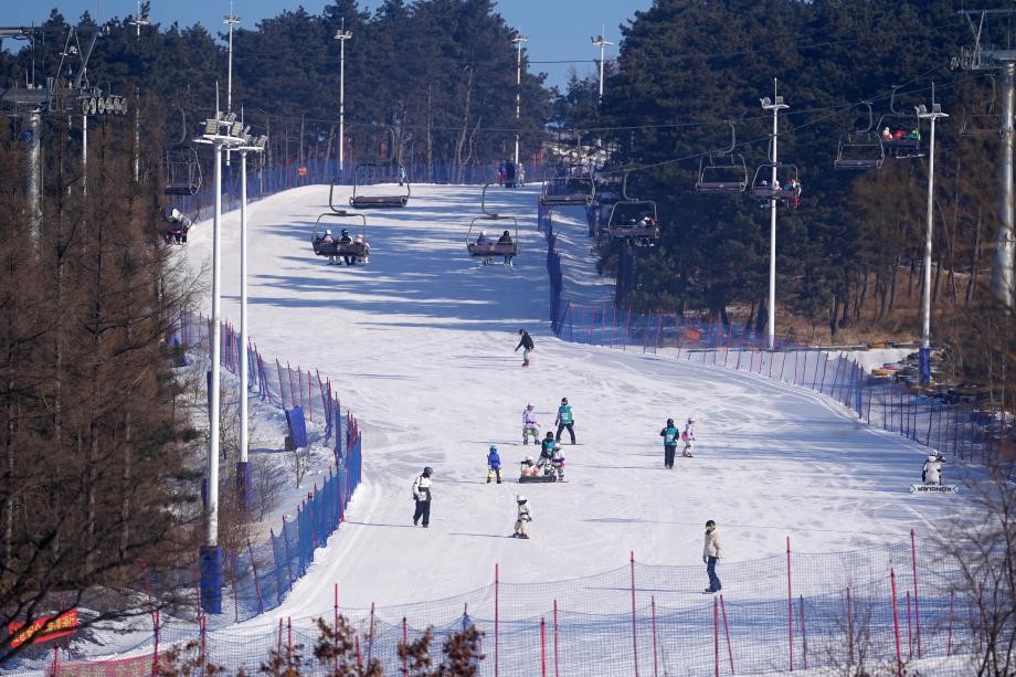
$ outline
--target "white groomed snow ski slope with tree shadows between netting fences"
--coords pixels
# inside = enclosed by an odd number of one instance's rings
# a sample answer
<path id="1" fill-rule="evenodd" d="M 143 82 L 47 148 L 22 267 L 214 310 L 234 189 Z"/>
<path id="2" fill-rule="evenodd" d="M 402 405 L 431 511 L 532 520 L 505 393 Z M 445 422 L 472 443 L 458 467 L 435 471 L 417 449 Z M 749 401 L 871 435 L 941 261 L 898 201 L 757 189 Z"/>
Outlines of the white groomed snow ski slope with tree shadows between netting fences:
<path id="1" fill-rule="evenodd" d="M 898 543 L 961 505 L 911 496 L 924 452 L 811 391 L 553 338 L 538 189 L 488 194 L 495 211 L 520 220 L 514 268 L 478 268 L 466 256 L 478 187 L 414 186 L 406 208 L 364 212 L 371 261 L 353 268 L 311 252 L 328 187 L 251 205 L 252 339 L 330 375 L 364 431 L 364 484 L 348 521 L 274 616 L 330 610 L 336 583 L 343 607 L 436 600 L 490 583 L 495 563 L 509 582 L 616 569 L 629 551 L 642 563 L 695 564 L 710 518 L 728 561 L 780 554 L 787 536 L 798 552 Z M 349 192 L 337 189 L 337 203 Z M 589 274 L 565 294 L 605 296 L 574 215 L 557 226 L 559 250 Z M 239 251 L 233 212 L 223 219 L 223 315 L 234 322 Z M 208 269 L 211 222 L 191 230 L 186 256 Z M 512 353 L 522 327 L 537 342 L 529 369 Z M 516 484 L 517 462 L 537 455 L 521 445 L 522 409 L 532 402 L 546 432 L 562 396 L 580 442 L 564 446 L 569 482 Z M 658 431 L 692 413 L 696 457 L 665 470 Z M 485 484 L 491 443 L 506 465 L 500 486 Z M 410 485 L 424 465 L 435 468 L 428 530 L 411 521 Z M 519 490 L 535 516 L 529 541 L 506 538 Z M 698 594 L 705 582 L 703 571 L 675 586 Z"/>

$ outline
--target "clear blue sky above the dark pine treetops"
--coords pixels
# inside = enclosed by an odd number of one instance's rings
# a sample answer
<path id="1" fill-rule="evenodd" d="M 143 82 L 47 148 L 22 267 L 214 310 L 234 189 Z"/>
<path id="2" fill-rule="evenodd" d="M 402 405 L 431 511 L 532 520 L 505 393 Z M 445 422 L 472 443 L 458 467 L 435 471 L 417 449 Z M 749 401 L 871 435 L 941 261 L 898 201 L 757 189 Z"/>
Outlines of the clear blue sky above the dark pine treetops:
<path id="1" fill-rule="evenodd" d="M 580 77 L 593 74 L 593 61 L 600 57 L 600 50 L 590 44 L 591 35 L 604 32 L 614 46 L 606 47 L 607 59 L 617 54 L 620 39 L 617 27 L 646 10 L 653 0 L 500 0 L 497 11 L 509 25 L 529 36 L 525 49 L 532 62 L 532 70 L 548 74 L 549 85 L 563 85 L 569 70 L 574 67 Z M 283 9 L 295 9 L 303 4 L 309 12 L 320 12 L 328 0 L 234 0 L 234 13 L 243 18 L 243 25 L 253 28 L 266 17 L 274 17 Z M 373 10 L 377 0 L 361 0 L 360 7 Z M 133 15 L 137 12 L 136 0 L 0 0 L 0 25 L 31 25 L 40 23 L 56 7 L 70 21 L 76 20 L 87 10 L 96 19 Z M 202 23 L 215 32 L 223 29 L 222 17 L 230 11 L 229 0 L 151 0 L 152 19 L 163 25 L 173 21 L 181 25 Z M 17 43 L 6 43 L 11 49 Z M 350 47 L 352 45 L 349 45 Z M 539 63 L 538 63 L 539 62 Z"/>

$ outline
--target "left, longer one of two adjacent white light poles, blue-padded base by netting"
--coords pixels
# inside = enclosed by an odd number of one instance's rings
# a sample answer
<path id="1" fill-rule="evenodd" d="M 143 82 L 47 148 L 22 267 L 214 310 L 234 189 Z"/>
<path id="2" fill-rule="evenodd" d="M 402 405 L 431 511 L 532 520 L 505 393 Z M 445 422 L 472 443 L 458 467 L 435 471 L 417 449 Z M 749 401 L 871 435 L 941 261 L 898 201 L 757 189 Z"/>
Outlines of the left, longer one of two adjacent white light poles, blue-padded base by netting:
<path id="1" fill-rule="evenodd" d="M 201 548 L 201 605 L 208 613 L 222 613 L 222 550 L 219 548 L 219 400 L 222 360 L 222 150 L 243 145 L 242 123 L 230 114 L 219 114 L 204 124 L 204 134 L 194 139 L 214 148 L 215 211 L 212 214 L 212 317 L 210 338 L 212 364 L 209 373 L 209 451 L 207 467 L 207 531 Z M 244 387 L 246 384 L 244 383 Z"/>

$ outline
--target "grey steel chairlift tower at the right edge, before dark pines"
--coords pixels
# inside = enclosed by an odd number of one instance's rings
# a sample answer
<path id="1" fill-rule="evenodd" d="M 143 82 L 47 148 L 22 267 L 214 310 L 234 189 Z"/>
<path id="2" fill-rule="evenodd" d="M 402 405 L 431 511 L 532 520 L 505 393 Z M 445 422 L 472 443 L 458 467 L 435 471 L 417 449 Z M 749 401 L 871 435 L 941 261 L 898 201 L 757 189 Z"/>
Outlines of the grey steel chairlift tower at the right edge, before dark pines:
<path id="1" fill-rule="evenodd" d="M 1002 119 L 999 137 L 1002 152 L 998 154 L 998 181 L 999 202 L 998 215 L 1001 223 L 995 234 L 995 265 L 992 266 L 992 293 L 1006 311 L 1012 311 L 1014 294 L 1013 255 L 1016 252 L 1014 243 L 1014 221 L 1016 214 L 1013 209 L 1013 159 L 1016 133 L 1013 129 L 1013 107 L 1016 95 L 1016 47 L 1012 45 L 999 46 L 985 40 L 985 31 L 994 20 L 1012 20 L 1016 18 L 1016 10 L 961 10 L 960 15 L 974 36 L 971 45 L 962 47 L 960 56 L 953 59 L 953 65 L 964 71 L 1002 71 Z"/>

